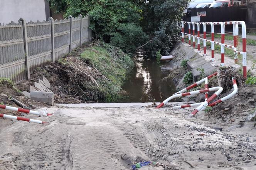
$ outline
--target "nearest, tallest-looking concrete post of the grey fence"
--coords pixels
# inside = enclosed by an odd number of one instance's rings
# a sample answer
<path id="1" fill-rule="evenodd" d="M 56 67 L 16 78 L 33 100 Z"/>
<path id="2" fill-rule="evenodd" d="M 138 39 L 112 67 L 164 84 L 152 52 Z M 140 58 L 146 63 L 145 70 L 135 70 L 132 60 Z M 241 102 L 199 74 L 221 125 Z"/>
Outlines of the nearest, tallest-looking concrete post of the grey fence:
<path id="1" fill-rule="evenodd" d="M 23 18 L 20 18 L 19 22 L 22 25 L 22 30 L 23 30 L 25 66 L 26 66 L 27 79 L 30 80 L 29 48 L 28 48 L 28 43 L 27 43 L 27 23 L 26 23 L 26 20 L 24 20 Z"/>

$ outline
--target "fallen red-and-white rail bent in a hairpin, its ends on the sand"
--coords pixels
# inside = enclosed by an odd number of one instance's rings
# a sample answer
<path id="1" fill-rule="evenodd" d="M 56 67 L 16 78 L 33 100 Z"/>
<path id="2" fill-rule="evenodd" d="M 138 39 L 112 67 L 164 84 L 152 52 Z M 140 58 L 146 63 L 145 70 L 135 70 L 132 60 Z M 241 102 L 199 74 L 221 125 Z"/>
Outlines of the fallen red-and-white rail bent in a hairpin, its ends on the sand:
<path id="1" fill-rule="evenodd" d="M 205 92 L 212 92 L 212 91 L 217 91 L 216 94 L 219 95 L 222 92 L 222 90 L 223 90 L 222 87 L 212 87 L 212 88 L 207 88 L 207 89 L 204 89 L 204 90 L 196 90 L 196 91 L 192 91 L 192 92 L 180 93 L 180 94 L 172 95 L 171 97 L 168 97 L 162 103 L 160 103 L 156 108 L 161 108 L 163 105 L 166 105 L 173 98 L 190 96 L 190 95 L 194 95 L 194 94 L 205 93 Z M 211 97 L 208 98 L 207 101 L 213 100 L 216 96 L 212 95 Z M 207 102 L 207 101 L 205 101 L 205 102 Z"/>

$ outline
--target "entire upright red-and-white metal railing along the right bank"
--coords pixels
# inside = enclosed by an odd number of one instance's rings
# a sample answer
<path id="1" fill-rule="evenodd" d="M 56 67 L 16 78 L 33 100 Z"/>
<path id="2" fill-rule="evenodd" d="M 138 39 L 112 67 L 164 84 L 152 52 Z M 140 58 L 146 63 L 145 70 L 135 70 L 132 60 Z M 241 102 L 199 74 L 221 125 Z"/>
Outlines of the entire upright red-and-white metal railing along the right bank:
<path id="1" fill-rule="evenodd" d="M 193 37 L 193 48 L 195 48 L 195 38 L 197 38 L 197 52 L 200 52 L 200 40 L 204 42 L 204 55 L 206 55 L 206 42 L 211 42 L 211 57 L 214 61 L 214 44 L 221 45 L 221 65 L 224 66 L 225 59 L 225 47 L 231 48 L 234 50 L 235 57 L 234 62 L 237 63 L 237 55 L 243 55 L 243 76 L 247 78 L 247 63 L 246 63 L 246 25 L 244 21 L 232 21 L 232 22 L 184 22 L 182 21 L 182 43 L 184 43 L 184 35 L 189 36 L 189 45 L 191 45 L 191 36 Z M 184 24 L 188 24 L 189 33 L 184 32 Z M 190 26 L 192 24 L 192 35 Z M 197 36 L 195 36 L 195 25 L 197 25 Z M 204 34 L 203 38 L 200 38 L 200 25 L 203 25 Z M 211 40 L 206 39 L 206 25 L 211 25 Z M 221 26 L 221 43 L 214 41 L 214 25 Z M 234 45 L 225 44 L 225 25 L 233 25 L 233 36 L 234 36 Z M 237 50 L 237 40 L 238 40 L 238 25 L 242 27 L 242 42 L 243 50 Z"/>

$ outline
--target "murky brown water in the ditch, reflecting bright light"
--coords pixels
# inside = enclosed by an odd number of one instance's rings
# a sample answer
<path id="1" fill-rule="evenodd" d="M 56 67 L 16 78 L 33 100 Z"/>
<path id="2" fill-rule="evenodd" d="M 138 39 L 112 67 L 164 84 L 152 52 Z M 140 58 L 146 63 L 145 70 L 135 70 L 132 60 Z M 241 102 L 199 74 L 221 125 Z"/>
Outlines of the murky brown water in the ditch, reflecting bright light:
<path id="1" fill-rule="evenodd" d="M 123 85 L 128 96 L 118 102 L 162 102 L 175 93 L 172 81 L 159 82 L 163 73 L 156 60 L 143 57 L 134 58 L 135 67 Z"/>

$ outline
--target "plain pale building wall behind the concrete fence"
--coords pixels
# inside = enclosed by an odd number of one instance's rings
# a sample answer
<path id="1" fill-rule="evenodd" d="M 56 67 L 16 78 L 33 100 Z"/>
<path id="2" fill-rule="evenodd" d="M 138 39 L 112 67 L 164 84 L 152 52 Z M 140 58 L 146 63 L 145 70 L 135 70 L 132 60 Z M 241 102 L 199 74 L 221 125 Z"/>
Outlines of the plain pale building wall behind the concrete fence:
<path id="1" fill-rule="evenodd" d="M 22 17 L 29 22 L 32 20 L 43 21 L 45 16 L 44 0 L 0 0 L 0 23 L 6 25 L 14 21 L 18 22 Z"/>

